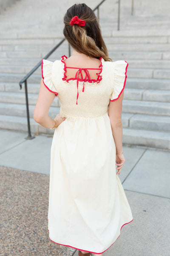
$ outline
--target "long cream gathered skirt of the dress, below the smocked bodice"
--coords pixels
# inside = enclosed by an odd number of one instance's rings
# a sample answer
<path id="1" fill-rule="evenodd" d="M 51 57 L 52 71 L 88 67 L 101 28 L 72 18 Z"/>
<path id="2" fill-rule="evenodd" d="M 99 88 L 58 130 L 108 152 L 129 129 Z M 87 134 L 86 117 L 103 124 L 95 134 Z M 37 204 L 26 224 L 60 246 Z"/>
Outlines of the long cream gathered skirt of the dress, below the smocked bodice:
<path id="1" fill-rule="evenodd" d="M 132 212 L 116 174 L 116 147 L 108 112 L 68 117 L 54 131 L 48 205 L 49 238 L 103 253 Z"/>

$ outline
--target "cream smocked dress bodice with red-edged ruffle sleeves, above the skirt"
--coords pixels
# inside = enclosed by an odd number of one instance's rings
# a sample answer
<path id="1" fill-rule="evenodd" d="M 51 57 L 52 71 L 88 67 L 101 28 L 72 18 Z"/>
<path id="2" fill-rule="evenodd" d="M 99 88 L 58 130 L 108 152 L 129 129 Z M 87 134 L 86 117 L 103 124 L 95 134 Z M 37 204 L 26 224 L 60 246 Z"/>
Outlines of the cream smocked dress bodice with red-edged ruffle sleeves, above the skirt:
<path id="1" fill-rule="evenodd" d="M 67 79 L 64 58 L 67 57 L 62 56 L 61 61 L 55 62 L 42 60 L 44 85 L 59 98 L 61 116 L 95 118 L 105 115 L 110 101 L 117 100 L 125 88 L 128 63 L 124 60 L 105 62 L 100 58 L 96 80 L 90 78 L 88 68 L 78 67 L 75 77 Z"/>

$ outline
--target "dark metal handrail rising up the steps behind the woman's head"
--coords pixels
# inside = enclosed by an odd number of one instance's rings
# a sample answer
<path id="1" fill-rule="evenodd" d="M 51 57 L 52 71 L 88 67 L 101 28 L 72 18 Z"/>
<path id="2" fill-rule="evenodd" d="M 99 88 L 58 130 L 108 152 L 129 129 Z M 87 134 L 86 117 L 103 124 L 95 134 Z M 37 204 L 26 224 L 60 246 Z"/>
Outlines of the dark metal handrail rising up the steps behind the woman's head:
<path id="1" fill-rule="evenodd" d="M 102 0 L 94 9 L 93 11 L 97 10 L 97 15 L 99 18 L 99 7 L 101 6 L 101 4 L 105 2 L 105 0 Z M 57 44 L 44 58 L 42 59 L 47 59 L 52 53 L 54 53 L 55 50 L 57 50 L 57 48 L 65 41 L 65 38 L 63 38 L 59 44 Z M 68 44 L 68 51 L 69 51 L 69 56 L 70 56 L 70 45 Z M 26 112 L 27 112 L 27 125 L 28 125 L 28 136 L 26 137 L 26 139 L 32 139 L 35 138 L 35 136 L 31 135 L 31 128 L 30 128 L 30 118 L 29 118 L 29 108 L 28 108 L 28 90 L 27 90 L 27 79 L 37 70 L 37 68 L 40 67 L 42 63 L 42 60 L 40 62 L 37 63 L 37 65 L 31 69 L 31 71 L 19 82 L 20 85 L 20 90 L 22 89 L 22 84 L 24 83 L 25 85 L 25 94 L 26 94 Z"/>

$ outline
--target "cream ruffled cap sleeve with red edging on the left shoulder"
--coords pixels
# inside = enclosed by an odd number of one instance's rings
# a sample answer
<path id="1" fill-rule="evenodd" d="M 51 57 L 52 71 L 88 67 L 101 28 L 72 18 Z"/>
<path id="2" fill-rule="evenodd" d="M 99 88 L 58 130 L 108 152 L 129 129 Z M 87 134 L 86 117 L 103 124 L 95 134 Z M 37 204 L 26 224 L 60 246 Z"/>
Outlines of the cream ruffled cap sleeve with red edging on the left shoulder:
<path id="1" fill-rule="evenodd" d="M 45 87 L 48 89 L 48 91 L 55 93 L 55 95 L 57 96 L 58 92 L 52 82 L 52 68 L 53 62 L 46 59 L 42 59 L 41 72 L 43 83 Z"/>

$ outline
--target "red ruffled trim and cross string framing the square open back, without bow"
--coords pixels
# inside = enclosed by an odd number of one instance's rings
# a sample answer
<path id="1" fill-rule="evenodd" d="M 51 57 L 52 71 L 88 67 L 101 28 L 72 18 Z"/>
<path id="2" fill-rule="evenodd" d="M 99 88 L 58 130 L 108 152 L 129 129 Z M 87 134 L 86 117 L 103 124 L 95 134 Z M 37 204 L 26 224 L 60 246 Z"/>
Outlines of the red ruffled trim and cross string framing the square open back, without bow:
<path id="1" fill-rule="evenodd" d="M 97 68 L 97 69 L 100 69 L 100 72 L 96 73 L 96 75 L 98 76 L 97 79 L 80 79 L 80 78 L 75 78 L 75 77 L 67 79 L 67 76 L 65 74 L 66 71 L 67 71 L 66 70 L 67 67 L 65 65 L 64 58 L 67 59 L 67 56 L 65 56 L 65 55 L 61 56 L 61 62 L 64 63 L 64 71 L 65 71 L 64 72 L 64 77 L 62 78 L 63 81 L 65 80 L 66 82 L 68 82 L 70 80 L 78 80 L 80 82 L 84 81 L 84 82 L 97 82 L 97 83 L 99 83 L 102 80 L 102 75 L 100 75 L 102 73 L 102 68 L 103 68 L 103 65 L 102 65 L 102 59 L 103 58 L 102 57 L 99 58 L 100 65 L 99 65 L 99 68 Z M 68 67 L 68 68 L 71 68 L 71 67 Z M 92 69 L 92 68 L 79 68 L 79 69 Z M 96 68 L 94 68 L 94 69 L 96 69 Z"/>

